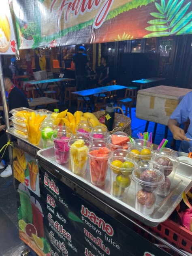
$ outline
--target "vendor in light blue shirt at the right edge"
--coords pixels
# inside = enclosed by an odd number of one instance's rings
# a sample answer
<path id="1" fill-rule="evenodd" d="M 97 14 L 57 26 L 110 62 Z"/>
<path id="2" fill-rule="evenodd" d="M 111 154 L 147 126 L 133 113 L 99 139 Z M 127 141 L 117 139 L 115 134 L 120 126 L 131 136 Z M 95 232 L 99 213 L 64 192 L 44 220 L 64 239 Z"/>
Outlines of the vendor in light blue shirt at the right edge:
<path id="1" fill-rule="evenodd" d="M 190 120 L 190 125 L 185 134 L 184 130 L 178 125 L 188 121 L 188 119 Z M 188 149 L 192 147 L 192 141 L 190 140 L 192 139 L 192 92 L 186 94 L 173 111 L 168 121 L 168 126 L 173 138 L 181 141 L 179 151 L 189 153 Z"/>

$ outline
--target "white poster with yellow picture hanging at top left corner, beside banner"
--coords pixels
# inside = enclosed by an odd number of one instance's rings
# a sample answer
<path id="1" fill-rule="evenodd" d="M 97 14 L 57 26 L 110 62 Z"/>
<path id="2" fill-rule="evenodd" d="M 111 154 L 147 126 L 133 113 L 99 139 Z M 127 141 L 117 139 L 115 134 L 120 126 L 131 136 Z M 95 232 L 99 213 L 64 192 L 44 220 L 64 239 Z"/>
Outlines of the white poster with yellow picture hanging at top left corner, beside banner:
<path id="1" fill-rule="evenodd" d="M 0 54 L 14 54 L 16 47 L 15 34 L 9 0 L 0 0 L 2 10 L 0 11 Z"/>

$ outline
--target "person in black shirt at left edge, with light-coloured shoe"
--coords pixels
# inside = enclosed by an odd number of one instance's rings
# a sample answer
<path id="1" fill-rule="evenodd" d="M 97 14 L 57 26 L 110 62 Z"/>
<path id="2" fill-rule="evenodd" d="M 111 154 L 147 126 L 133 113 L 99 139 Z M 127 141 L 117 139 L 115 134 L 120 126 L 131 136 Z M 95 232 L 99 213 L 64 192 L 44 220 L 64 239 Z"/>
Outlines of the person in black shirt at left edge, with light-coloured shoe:
<path id="1" fill-rule="evenodd" d="M 26 107 L 29 108 L 28 101 L 26 96 L 21 92 L 15 85 L 13 85 L 12 73 L 11 70 L 8 68 L 3 68 L 3 75 L 4 75 L 4 85 L 5 90 L 8 92 L 8 103 L 9 103 L 9 110 L 16 109 L 19 107 Z M 0 126 L 0 149 L 7 143 L 7 136 L 6 136 L 6 126 L 5 124 Z M 1 153 L 2 154 L 2 153 Z M 8 164 L 6 167 L 5 162 Z M 0 177 L 9 177 L 12 175 L 11 165 L 9 164 L 9 152 L 6 149 L 3 160 L 0 157 L 0 169 L 6 169 L 0 174 Z"/>

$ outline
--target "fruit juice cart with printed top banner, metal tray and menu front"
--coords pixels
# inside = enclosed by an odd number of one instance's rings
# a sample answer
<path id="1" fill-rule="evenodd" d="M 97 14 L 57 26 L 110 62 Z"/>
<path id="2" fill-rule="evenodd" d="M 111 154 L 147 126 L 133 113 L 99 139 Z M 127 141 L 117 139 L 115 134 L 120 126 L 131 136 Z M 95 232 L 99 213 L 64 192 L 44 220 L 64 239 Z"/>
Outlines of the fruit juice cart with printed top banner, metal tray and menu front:
<path id="1" fill-rule="evenodd" d="M 175 6 L 175 1 L 173 4 Z M 145 3 L 127 0 L 120 3 L 117 0 L 81 1 L 78 7 L 77 1 L 34 0 L 31 6 L 28 0 L 13 0 L 11 7 L 15 15 L 19 49 L 27 49 L 168 36 L 170 24 L 160 25 L 162 21 L 154 17 L 166 17 L 166 12 L 171 12 L 171 8 L 179 20 L 186 15 L 183 26 L 179 27 L 176 23 L 170 25 L 171 33 L 186 34 L 190 29 L 191 6 L 184 1 L 186 11 L 181 16 L 181 6 L 174 8 L 173 4 L 170 1 L 154 3 L 150 0 Z M 134 19 L 128 21 L 125 18 L 129 13 Z M 137 20 L 136 13 L 142 13 Z M 138 22 L 146 23 L 146 26 L 138 30 Z M 0 75 L 3 88 L 2 72 Z M 3 100 L 4 111 L 7 111 L 6 98 L 3 97 Z M 8 114 L 6 124 L 9 127 Z M 139 235 L 137 228 L 179 255 L 186 255 L 180 247 L 155 235 L 141 223 L 152 228 L 169 217 L 181 201 L 182 192 L 187 192 L 192 186 L 189 164 L 180 163 L 169 196 L 159 197 L 153 214 L 144 215 L 134 208 L 134 188 L 130 188 L 125 201 L 114 198 L 109 193 L 109 173 L 103 187 L 94 186 L 90 182 L 88 165 L 83 177 L 75 175 L 68 165 L 61 166 L 55 162 L 53 147 L 42 149 L 41 145 L 35 146 L 28 139 L 15 135 L 13 128 L 8 128 L 7 132 L 16 139 L 14 161 L 19 162 L 22 158 L 26 168 L 25 172 L 17 171 L 24 174 L 19 176 L 19 179 L 22 176 L 22 180 L 15 178 L 19 236 L 39 256 L 170 255 Z"/>

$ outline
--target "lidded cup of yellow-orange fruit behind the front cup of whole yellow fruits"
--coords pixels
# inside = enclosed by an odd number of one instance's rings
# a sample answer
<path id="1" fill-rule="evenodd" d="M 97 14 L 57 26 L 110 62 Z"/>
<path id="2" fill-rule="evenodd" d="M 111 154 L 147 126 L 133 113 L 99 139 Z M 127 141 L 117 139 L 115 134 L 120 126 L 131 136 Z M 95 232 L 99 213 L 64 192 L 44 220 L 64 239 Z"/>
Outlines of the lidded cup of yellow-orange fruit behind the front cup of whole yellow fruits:
<path id="1" fill-rule="evenodd" d="M 153 155 L 153 150 L 149 147 L 132 145 L 128 148 L 128 156 L 133 159 L 135 162 L 140 160 L 150 160 Z"/>

